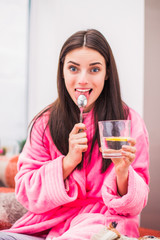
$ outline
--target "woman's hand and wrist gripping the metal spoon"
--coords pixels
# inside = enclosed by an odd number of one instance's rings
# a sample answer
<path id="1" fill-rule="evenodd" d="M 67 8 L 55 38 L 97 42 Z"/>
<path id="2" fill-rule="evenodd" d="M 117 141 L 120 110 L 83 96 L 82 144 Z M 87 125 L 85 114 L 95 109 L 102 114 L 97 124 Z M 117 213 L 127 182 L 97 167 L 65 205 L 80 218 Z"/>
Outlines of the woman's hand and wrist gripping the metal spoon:
<path id="1" fill-rule="evenodd" d="M 69 151 L 63 159 L 64 179 L 67 178 L 73 169 L 82 161 L 82 153 L 88 148 L 85 129 L 85 124 L 77 123 L 69 134 Z"/>

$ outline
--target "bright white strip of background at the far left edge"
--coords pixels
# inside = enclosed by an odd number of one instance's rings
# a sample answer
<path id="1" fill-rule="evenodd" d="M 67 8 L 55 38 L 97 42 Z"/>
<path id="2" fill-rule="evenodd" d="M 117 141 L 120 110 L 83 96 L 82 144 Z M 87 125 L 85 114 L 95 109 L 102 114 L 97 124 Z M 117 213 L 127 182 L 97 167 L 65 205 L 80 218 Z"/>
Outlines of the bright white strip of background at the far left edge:
<path id="1" fill-rule="evenodd" d="M 28 1 L 0 1 L 0 148 L 26 137 Z"/>

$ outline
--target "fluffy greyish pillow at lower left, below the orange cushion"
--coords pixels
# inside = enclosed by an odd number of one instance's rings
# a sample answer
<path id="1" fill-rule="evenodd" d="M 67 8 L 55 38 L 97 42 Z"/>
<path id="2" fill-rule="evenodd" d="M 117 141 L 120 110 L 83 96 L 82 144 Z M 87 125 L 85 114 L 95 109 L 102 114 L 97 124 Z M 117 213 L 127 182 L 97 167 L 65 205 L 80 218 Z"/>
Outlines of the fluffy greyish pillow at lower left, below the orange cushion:
<path id="1" fill-rule="evenodd" d="M 10 228 L 26 212 L 14 192 L 0 192 L 0 230 Z"/>

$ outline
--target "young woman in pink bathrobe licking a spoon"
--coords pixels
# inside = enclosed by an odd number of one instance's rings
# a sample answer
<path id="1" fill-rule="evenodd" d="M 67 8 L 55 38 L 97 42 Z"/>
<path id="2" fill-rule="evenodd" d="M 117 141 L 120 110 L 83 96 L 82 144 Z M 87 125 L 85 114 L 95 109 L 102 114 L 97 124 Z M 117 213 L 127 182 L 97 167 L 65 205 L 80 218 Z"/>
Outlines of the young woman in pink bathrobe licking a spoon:
<path id="1" fill-rule="evenodd" d="M 57 85 L 57 100 L 34 118 L 19 157 L 16 195 L 28 212 L 0 239 L 84 240 L 113 221 L 121 234 L 138 237 L 149 191 L 148 134 L 121 99 L 114 57 L 99 31 L 79 31 L 64 43 Z M 83 123 L 80 94 L 87 98 Z M 119 159 L 100 151 L 98 121 L 111 119 L 131 120 L 130 145 Z"/>

